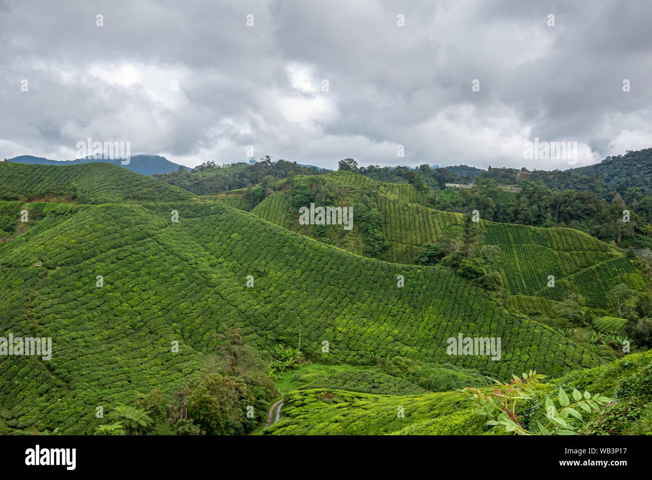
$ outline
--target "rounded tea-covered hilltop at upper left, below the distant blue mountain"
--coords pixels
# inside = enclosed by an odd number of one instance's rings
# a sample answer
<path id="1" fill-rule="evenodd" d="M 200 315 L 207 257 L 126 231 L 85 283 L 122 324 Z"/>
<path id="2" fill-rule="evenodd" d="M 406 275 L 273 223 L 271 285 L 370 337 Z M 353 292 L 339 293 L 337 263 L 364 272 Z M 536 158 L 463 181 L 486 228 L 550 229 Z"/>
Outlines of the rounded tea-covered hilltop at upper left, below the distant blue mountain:
<path id="1" fill-rule="evenodd" d="M 0 199 L 51 200 L 78 203 L 176 201 L 193 193 L 111 163 L 28 165 L 0 162 Z M 60 199 L 55 199 L 59 201 Z"/>

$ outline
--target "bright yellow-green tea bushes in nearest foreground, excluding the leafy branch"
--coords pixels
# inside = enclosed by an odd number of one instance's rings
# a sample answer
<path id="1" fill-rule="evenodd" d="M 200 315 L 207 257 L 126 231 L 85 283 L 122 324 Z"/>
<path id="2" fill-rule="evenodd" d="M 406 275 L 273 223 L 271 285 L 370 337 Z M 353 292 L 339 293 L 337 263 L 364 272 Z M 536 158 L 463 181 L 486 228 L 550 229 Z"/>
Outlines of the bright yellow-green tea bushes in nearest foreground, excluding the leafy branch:
<path id="1" fill-rule="evenodd" d="M 587 415 L 582 434 L 652 434 L 652 351 L 628 355 L 607 366 L 571 372 L 542 385 L 538 397 L 517 409 L 527 423 L 544 417 L 544 398 L 557 392 L 581 392 L 614 399 L 606 413 Z M 556 404 L 559 408 L 559 404 Z M 402 413 L 402 415 L 399 415 Z M 461 392 L 379 395 L 316 388 L 288 392 L 282 417 L 267 435 L 486 435 L 486 425 L 469 396 Z"/>

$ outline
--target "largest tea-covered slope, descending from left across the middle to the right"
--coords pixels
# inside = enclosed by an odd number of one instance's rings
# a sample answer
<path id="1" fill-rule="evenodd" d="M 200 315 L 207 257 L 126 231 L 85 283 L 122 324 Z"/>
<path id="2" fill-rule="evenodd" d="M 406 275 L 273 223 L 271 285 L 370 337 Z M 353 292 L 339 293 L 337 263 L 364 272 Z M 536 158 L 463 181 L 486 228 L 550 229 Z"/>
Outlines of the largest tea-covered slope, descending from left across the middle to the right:
<path id="1" fill-rule="evenodd" d="M 0 202 L 0 212 L 14 208 Z M 306 358 L 329 362 L 403 355 L 507 377 L 601 361 L 447 270 L 359 257 L 221 202 L 27 209 L 38 212 L 29 229 L 0 245 L 0 328 L 52 337 L 53 355 L 1 358 L 0 420 L 10 428 L 90 432 L 96 406 L 196 372 L 222 323 L 261 351 L 295 344 L 301 327 Z M 459 333 L 500 337 L 501 360 L 447 355 Z"/>

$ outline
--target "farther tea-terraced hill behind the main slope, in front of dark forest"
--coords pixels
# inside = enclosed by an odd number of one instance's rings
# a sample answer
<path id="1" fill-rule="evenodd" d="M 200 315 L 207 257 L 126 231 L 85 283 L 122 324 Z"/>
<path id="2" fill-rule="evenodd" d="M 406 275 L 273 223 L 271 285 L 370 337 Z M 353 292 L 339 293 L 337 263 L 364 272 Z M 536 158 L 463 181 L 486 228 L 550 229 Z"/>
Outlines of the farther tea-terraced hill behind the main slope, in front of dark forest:
<path id="1" fill-rule="evenodd" d="M 331 192 L 331 203 L 323 204 L 352 205 L 363 195 L 371 197 L 383 218 L 381 228 L 389 244 L 385 251 L 374 255 L 379 259 L 415 263 L 424 244 L 441 242 L 462 232 L 462 214 L 429 208 L 427 194 L 417 191 L 413 185 L 383 184 L 342 171 L 315 177 L 297 176 L 294 180 L 294 184 L 301 182 L 312 191 Z M 288 182 L 277 182 L 274 187 L 280 190 L 260 202 L 252 213 L 286 229 L 316 237 L 314 226 L 299 225 L 298 212 L 291 208 Z M 600 306 L 617 283 L 627 283 L 635 289 L 647 288 L 622 251 L 584 232 L 482 219 L 480 223 L 484 244 L 500 249 L 495 268 L 503 277 L 506 295 L 563 300 L 569 293 L 580 293 L 587 299 L 587 305 Z M 331 239 L 334 238 L 334 245 L 363 255 L 362 236 L 361 227 L 356 227 L 354 221 L 352 231 L 340 232 Z M 555 279 L 554 288 L 548 287 L 551 275 Z"/>

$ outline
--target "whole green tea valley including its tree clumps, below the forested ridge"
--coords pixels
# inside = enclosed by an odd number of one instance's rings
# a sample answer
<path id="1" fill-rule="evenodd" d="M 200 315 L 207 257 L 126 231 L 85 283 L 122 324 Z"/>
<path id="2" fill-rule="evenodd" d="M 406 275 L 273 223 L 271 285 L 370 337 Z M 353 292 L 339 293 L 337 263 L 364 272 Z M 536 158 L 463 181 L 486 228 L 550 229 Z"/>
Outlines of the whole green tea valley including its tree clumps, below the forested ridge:
<path id="1" fill-rule="evenodd" d="M 652 280 L 623 249 L 349 171 L 261 190 L 254 206 L 108 163 L 0 163 L 0 325 L 53 344 L 0 357 L 0 432 L 504 434 L 464 389 L 530 370 L 541 398 L 581 386 L 649 411 L 649 351 L 618 313 L 652 314 Z M 350 208 L 351 229 L 302 223 L 315 204 Z"/>

